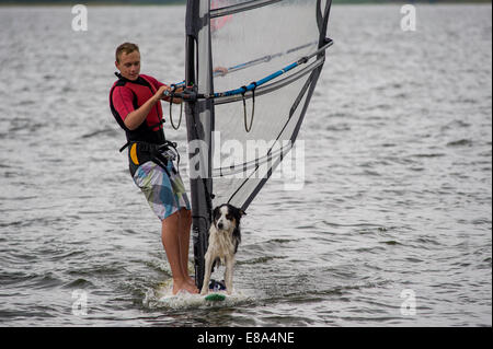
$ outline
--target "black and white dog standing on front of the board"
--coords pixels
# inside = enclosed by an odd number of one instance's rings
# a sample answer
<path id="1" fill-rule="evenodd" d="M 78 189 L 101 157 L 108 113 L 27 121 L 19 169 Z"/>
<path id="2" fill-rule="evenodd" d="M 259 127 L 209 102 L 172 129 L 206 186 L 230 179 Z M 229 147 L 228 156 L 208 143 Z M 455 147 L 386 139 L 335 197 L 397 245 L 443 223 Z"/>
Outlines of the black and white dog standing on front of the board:
<path id="1" fill-rule="evenodd" d="M 223 203 L 214 209 L 209 230 L 209 246 L 205 255 L 205 275 L 200 294 L 209 290 L 210 274 L 216 264 L 226 266 L 225 283 L 228 294 L 232 292 L 234 254 L 241 242 L 240 220 L 246 214 L 232 205 Z"/>

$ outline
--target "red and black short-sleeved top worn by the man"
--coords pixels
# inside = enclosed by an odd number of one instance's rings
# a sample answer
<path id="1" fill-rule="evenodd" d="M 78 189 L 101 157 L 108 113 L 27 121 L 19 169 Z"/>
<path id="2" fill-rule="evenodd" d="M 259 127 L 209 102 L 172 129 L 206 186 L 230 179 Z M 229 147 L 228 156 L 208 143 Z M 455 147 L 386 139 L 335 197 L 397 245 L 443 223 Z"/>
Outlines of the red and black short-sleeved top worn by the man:
<path id="1" fill-rule="evenodd" d="M 165 142 L 164 130 L 162 124 L 161 103 L 156 103 L 156 106 L 149 112 L 146 120 L 135 130 L 130 130 L 125 126 L 124 118 L 126 115 L 119 115 L 113 105 L 113 92 L 116 86 L 125 86 L 130 89 L 134 94 L 134 108 L 138 109 L 151 96 L 156 94 L 157 86 L 154 86 L 148 79 L 139 75 L 136 81 L 125 79 L 118 73 L 115 73 L 119 79 L 116 81 L 110 91 L 110 107 L 118 125 L 125 130 L 127 136 L 127 146 L 131 142 L 147 142 L 153 144 L 163 144 Z"/>

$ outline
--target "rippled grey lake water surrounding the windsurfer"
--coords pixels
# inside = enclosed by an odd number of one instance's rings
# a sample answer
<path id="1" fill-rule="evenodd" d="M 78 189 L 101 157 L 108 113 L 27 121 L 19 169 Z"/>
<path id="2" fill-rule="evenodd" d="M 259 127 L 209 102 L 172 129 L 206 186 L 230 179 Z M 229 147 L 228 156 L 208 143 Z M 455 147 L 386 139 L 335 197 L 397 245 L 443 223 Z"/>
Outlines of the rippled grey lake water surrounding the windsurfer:
<path id="1" fill-rule="evenodd" d="M 159 301 L 160 222 L 107 105 L 125 40 L 183 80 L 185 8 L 88 9 L 73 32 L 70 7 L 0 8 L 1 326 L 492 325 L 491 4 L 417 5 L 414 32 L 333 7 L 303 189 L 249 208 L 222 306 Z"/>

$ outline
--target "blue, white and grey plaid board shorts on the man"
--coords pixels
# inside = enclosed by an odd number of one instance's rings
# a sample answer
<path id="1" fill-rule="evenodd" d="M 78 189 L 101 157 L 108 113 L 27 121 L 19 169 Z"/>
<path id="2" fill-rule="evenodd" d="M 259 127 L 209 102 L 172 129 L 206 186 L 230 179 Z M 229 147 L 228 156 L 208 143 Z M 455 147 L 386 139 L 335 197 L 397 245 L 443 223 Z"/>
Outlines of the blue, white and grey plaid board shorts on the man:
<path id="1" fill-rule="evenodd" d="M 141 164 L 134 174 L 135 184 L 142 190 L 152 211 L 164 220 L 182 208 L 191 209 L 180 173 L 168 161 L 167 171 L 152 161 Z"/>

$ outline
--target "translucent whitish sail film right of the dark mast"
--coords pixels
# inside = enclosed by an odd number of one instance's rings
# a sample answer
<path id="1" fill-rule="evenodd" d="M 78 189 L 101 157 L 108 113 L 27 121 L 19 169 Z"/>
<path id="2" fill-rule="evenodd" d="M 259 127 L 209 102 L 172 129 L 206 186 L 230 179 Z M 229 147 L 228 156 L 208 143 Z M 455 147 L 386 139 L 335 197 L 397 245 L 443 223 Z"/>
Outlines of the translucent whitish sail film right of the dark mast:
<path id="1" fill-rule="evenodd" d="M 211 8 L 227 9 L 253 2 L 213 1 Z M 213 67 L 229 69 L 226 75 L 214 75 L 215 92 L 249 85 L 319 48 L 317 0 L 266 2 L 266 5 L 211 20 Z M 317 56 L 312 57 L 310 62 L 317 59 Z M 300 69 L 273 82 L 297 74 Z M 293 143 L 289 142 L 296 139 L 310 86 L 317 78 L 308 70 L 280 89 L 262 95 L 257 93 L 254 100 L 252 93 L 246 93 L 246 109 L 242 98 L 227 104 L 216 101 L 211 170 L 214 205 L 230 202 L 246 208 L 290 150 Z M 252 116 L 252 128 L 246 132 Z"/>

